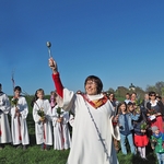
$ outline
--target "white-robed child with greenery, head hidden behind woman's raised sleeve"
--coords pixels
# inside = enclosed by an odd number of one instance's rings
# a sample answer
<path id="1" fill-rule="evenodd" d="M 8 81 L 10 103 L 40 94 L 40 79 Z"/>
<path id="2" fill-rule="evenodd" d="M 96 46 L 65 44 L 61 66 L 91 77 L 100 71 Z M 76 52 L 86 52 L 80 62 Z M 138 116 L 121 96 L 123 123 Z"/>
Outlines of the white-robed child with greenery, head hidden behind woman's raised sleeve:
<path id="1" fill-rule="evenodd" d="M 60 112 L 58 112 L 60 110 Z M 61 113 L 61 114 L 60 114 Z M 67 150 L 70 148 L 70 131 L 68 127 L 69 113 L 56 105 L 51 112 L 54 127 L 54 149 Z"/>

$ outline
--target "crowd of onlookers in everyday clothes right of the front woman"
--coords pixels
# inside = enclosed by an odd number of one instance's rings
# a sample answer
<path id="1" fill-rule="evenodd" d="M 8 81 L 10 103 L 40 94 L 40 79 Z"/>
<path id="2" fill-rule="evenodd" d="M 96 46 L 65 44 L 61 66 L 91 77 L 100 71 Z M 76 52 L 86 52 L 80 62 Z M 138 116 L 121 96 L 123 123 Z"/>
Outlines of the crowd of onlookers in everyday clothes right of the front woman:
<path id="1" fill-rule="evenodd" d="M 139 101 L 136 93 L 127 93 L 125 101 L 119 103 L 114 93 L 104 94 L 108 96 L 116 109 L 116 115 L 118 115 L 120 141 L 114 139 L 115 150 L 117 152 L 121 150 L 126 155 L 126 141 L 128 141 L 131 153 L 139 153 L 143 161 L 148 161 L 145 147 L 151 145 L 156 153 L 159 163 L 163 164 L 164 105 L 162 97 L 155 92 L 149 92 L 143 99 Z"/>

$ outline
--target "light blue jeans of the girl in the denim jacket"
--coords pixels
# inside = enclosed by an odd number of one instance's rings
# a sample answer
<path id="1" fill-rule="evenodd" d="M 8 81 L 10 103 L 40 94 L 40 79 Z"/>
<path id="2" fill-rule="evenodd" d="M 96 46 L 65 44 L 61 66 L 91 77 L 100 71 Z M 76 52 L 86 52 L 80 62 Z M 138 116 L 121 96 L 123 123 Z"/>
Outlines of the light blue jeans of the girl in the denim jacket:
<path id="1" fill-rule="evenodd" d="M 133 144 L 132 133 L 127 134 L 127 136 L 120 133 L 120 147 L 121 147 L 122 154 L 125 154 L 125 155 L 127 154 L 126 138 L 128 139 L 131 153 L 136 154 L 137 152 L 136 152 L 136 147 Z"/>

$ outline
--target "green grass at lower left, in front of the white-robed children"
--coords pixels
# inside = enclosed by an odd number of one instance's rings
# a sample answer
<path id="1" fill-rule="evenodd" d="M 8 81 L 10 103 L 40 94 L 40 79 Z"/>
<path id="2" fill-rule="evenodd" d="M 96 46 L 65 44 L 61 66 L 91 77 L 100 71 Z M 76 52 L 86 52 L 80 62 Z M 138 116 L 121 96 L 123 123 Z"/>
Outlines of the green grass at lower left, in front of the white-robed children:
<path id="1" fill-rule="evenodd" d="M 30 145 L 25 151 L 7 145 L 0 151 L 1 164 L 66 164 L 69 151 L 40 151 L 38 145 Z"/>

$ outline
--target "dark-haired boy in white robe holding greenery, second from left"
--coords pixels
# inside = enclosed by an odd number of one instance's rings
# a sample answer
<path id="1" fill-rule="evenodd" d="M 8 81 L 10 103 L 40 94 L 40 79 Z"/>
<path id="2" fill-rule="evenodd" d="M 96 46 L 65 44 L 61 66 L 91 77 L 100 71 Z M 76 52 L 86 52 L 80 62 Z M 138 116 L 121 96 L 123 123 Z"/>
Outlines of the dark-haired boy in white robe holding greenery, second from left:
<path id="1" fill-rule="evenodd" d="M 20 86 L 14 87 L 14 97 L 12 98 L 11 107 L 11 132 L 12 141 L 16 148 L 20 148 L 21 143 L 23 149 L 30 144 L 28 129 L 26 124 L 26 118 L 28 115 L 28 106 L 25 97 L 21 96 L 22 89 Z"/>

